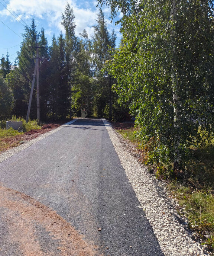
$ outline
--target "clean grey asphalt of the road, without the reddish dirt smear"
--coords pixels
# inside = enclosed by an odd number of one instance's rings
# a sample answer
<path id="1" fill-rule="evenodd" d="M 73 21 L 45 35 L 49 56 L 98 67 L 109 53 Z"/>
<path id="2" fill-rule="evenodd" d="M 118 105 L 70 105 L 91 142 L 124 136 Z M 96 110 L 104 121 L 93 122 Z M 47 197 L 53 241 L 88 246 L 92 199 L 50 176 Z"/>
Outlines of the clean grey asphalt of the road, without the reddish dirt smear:
<path id="1" fill-rule="evenodd" d="M 55 210 L 96 255 L 163 256 L 101 119 L 79 119 L 1 162 L 0 185 Z M 0 256 L 22 255 L 7 225 L 0 218 Z M 42 225 L 36 230 L 42 252 L 61 255 Z"/>

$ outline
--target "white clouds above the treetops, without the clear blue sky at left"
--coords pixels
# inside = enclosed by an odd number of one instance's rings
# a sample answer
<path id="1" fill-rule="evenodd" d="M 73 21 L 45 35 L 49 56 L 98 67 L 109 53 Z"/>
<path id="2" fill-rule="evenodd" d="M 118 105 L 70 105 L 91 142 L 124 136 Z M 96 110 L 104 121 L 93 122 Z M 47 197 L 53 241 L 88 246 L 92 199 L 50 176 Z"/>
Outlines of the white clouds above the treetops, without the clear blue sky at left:
<path id="1" fill-rule="evenodd" d="M 54 27 L 64 32 L 60 22 L 61 13 L 64 12 L 67 2 L 74 9 L 77 35 L 83 29 L 86 29 L 90 36 L 93 33 L 93 26 L 96 23 L 95 19 L 97 19 L 96 14 L 98 13 L 98 8 L 95 8 L 97 2 L 94 0 L 80 0 L 78 4 L 74 0 L 9 0 L 8 4 L 19 15 L 18 19 L 23 19 L 27 22 L 29 17 L 34 16 L 36 21 L 41 19 L 39 21 L 41 24 L 43 23 L 42 20 L 44 22 L 46 21 L 50 28 L 48 31 L 46 30 L 46 33 L 51 33 L 51 31 L 55 30 Z M 106 6 L 103 6 L 102 9 L 107 20 L 108 28 L 110 30 L 115 29 L 114 23 L 110 23 L 110 10 Z M 0 15 L 9 16 L 13 21 L 16 20 L 7 9 L 0 11 Z"/>

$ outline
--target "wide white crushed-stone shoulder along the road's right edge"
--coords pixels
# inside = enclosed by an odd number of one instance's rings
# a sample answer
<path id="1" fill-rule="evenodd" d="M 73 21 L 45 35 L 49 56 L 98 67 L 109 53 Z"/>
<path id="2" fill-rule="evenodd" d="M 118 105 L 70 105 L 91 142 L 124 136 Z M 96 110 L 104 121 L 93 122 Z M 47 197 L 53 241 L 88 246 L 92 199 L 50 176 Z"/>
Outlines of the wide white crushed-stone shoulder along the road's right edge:
<path id="1" fill-rule="evenodd" d="M 188 220 L 183 220 L 176 211 L 179 207 L 178 202 L 168 197 L 166 183 L 157 180 L 146 167 L 141 166 L 121 143 L 120 135 L 114 131 L 109 122 L 105 119 L 103 122 L 165 256 L 212 255 L 207 252 L 206 246 L 192 239 L 192 234 L 185 229 Z M 181 224 L 179 220 L 185 224 Z"/>

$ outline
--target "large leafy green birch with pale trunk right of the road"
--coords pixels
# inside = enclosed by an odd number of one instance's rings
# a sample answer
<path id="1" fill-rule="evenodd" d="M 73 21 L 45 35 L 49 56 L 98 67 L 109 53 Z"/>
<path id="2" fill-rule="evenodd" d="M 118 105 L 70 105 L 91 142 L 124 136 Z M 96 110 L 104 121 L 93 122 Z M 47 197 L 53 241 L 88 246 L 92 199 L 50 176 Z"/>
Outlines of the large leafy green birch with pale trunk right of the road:
<path id="1" fill-rule="evenodd" d="M 147 162 L 181 167 L 198 127 L 213 132 L 214 9 L 211 0 L 100 0 L 124 16 L 108 70 L 136 116 Z"/>

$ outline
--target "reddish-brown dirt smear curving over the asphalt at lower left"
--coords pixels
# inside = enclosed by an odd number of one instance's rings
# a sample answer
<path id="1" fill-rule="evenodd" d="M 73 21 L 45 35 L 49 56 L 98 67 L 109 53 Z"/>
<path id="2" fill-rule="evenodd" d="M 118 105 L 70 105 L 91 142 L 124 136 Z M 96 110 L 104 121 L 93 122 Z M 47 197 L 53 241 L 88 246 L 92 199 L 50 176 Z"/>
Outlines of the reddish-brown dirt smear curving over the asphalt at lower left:
<path id="1" fill-rule="evenodd" d="M 0 255 L 8 255 L 10 244 L 18 245 L 19 250 L 10 253 L 13 256 L 95 255 L 93 246 L 52 209 L 13 189 L 0 186 L 0 194 L 0 213 L 5 224 L 1 232 L 6 231 L 9 241 L 6 248 L 1 247 Z"/>

